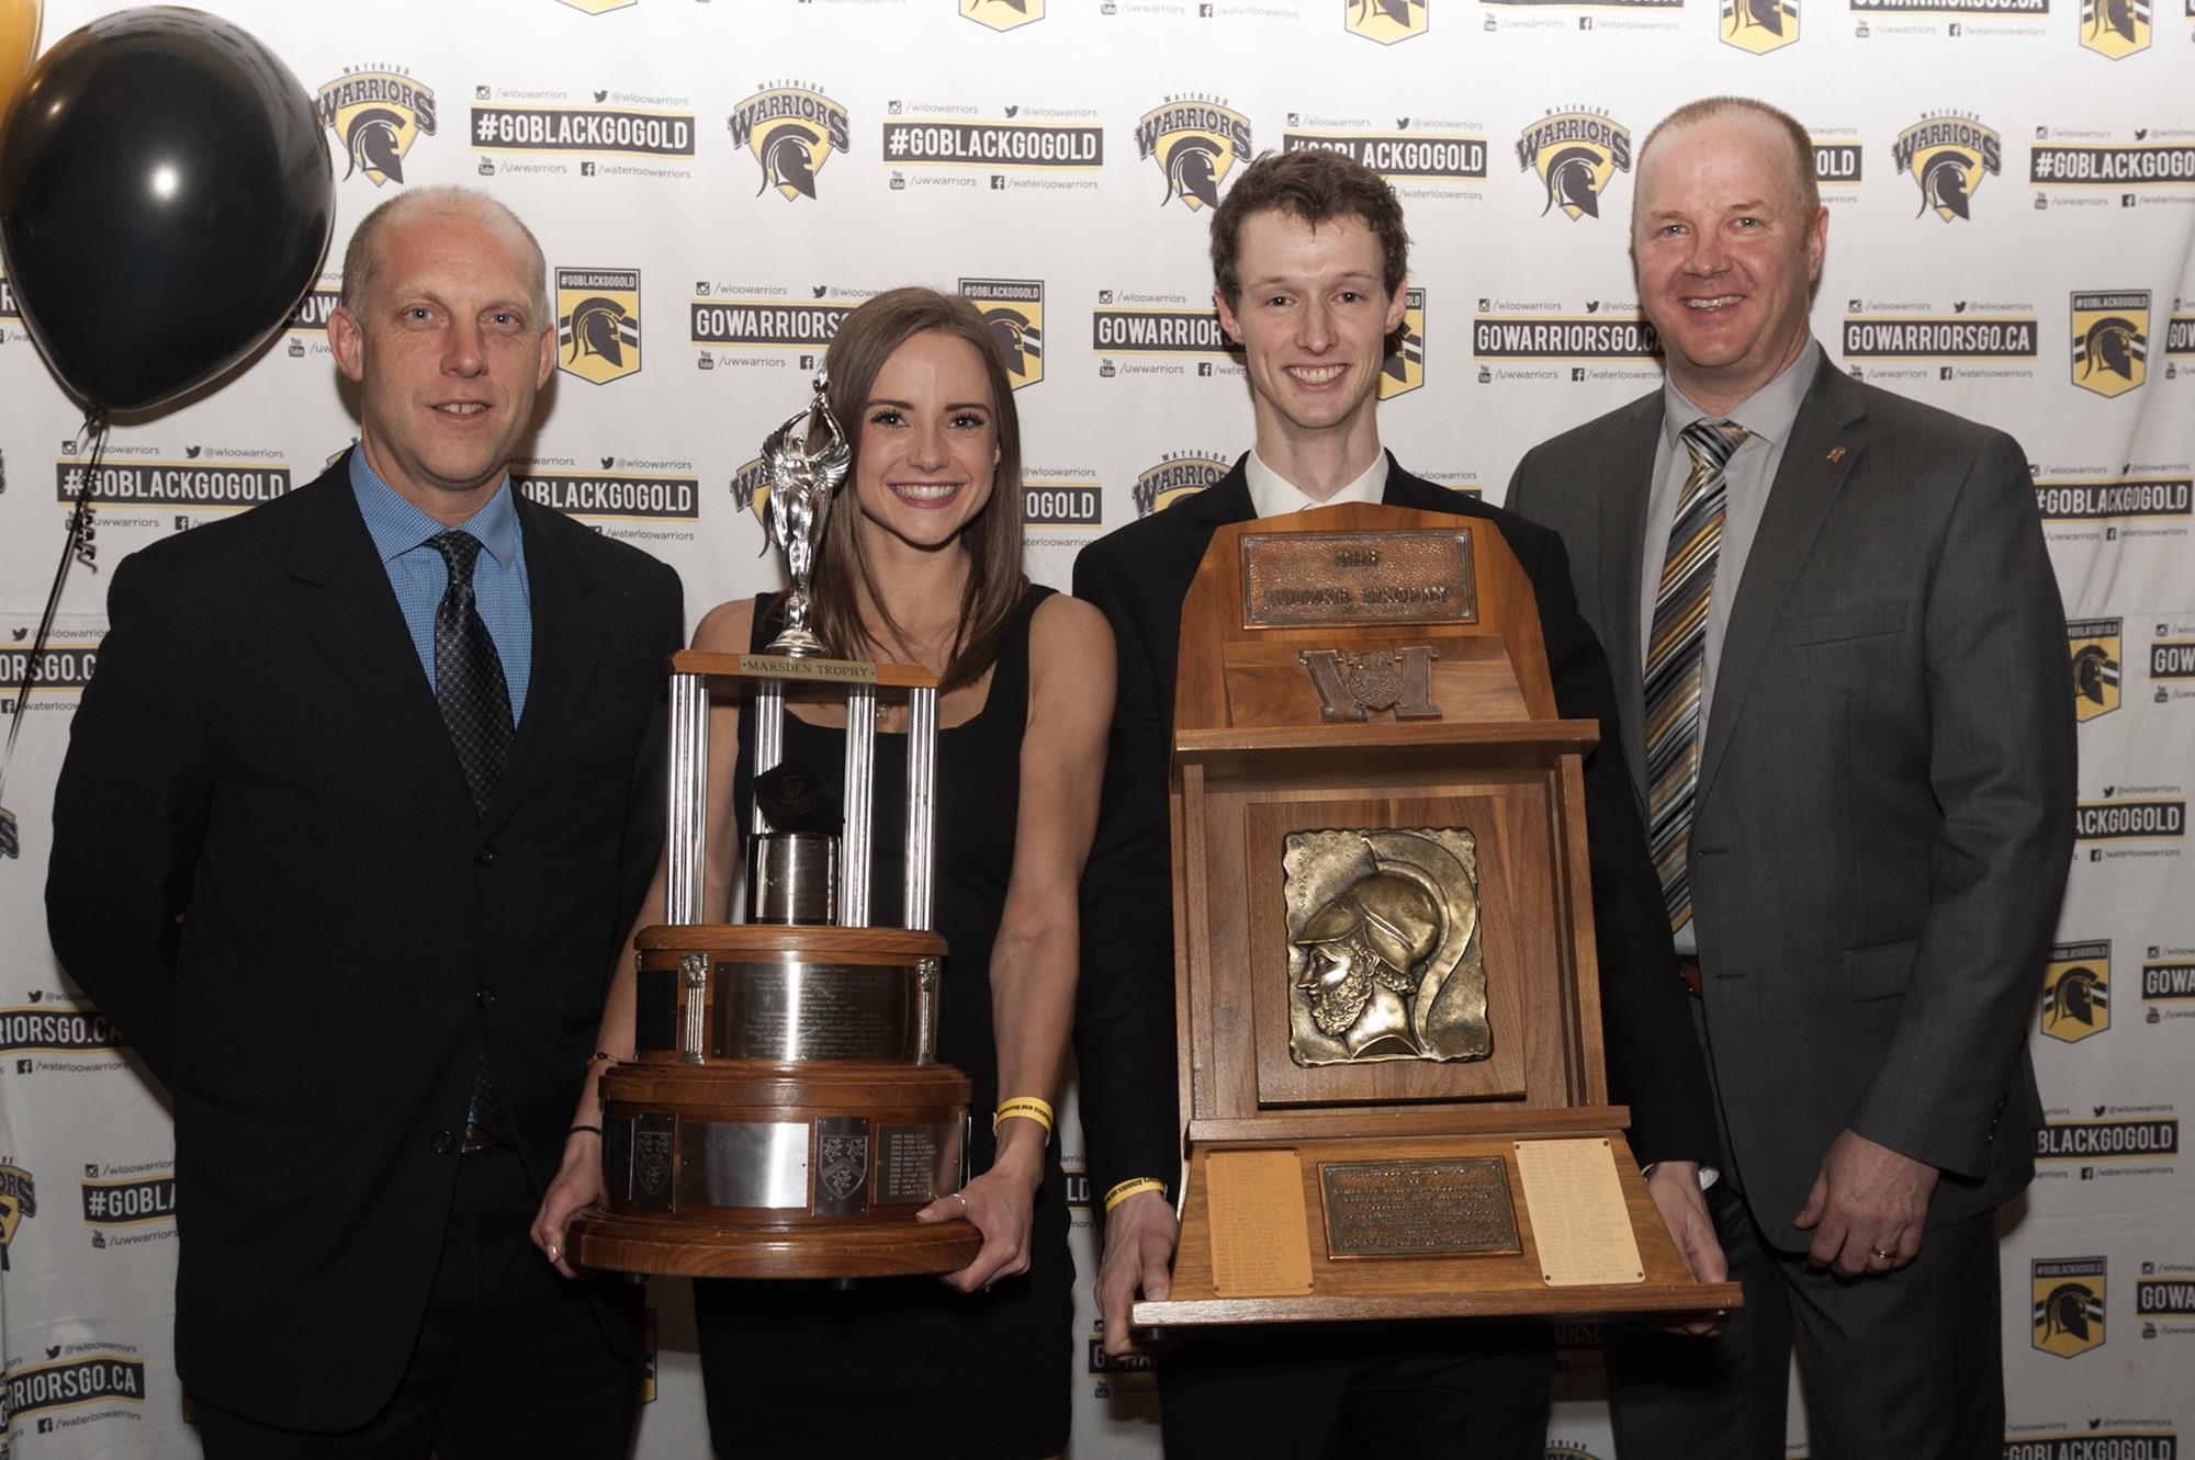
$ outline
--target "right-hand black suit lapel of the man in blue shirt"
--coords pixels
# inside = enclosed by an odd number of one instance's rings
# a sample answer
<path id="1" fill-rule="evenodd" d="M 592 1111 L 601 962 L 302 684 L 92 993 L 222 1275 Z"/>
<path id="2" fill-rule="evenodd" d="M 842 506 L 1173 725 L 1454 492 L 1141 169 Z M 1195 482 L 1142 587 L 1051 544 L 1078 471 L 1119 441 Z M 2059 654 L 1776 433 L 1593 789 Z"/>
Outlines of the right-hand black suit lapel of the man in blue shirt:
<path id="1" fill-rule="evenodd" d="M 586 702 L 595 662 L 601 658 L 601 616 L 588 614 L 595 570 L 549 531 L 547 513 L 518 498 L 518 528 L 527 544 L 527 594 L 533 612 L 533 675 L 527 708 L 518 719 L 511 758 L 487 798 L 483 829 L 494 833 L 509 820 L 542 769 L 564 743 L 573 712 Z"/>

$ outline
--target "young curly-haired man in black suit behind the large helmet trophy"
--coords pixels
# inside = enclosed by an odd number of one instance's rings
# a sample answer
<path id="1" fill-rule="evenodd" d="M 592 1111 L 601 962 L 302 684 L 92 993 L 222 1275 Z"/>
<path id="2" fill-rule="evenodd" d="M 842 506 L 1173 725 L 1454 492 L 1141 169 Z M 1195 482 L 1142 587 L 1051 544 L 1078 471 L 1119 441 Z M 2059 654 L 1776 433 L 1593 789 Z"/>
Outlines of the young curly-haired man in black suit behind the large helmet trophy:
<path id="1" fill-rule="evenodd" d="M 1587 842 L 1611 1098 L 1695 1276 L 1721 1252 L 1699 1195 L 1714 1116 L 1675 978 L 1668 923 L 1616 741 L 1607 660 L 1578 618 L 1563 544 L 1519 517 L 1409 476 L 1378 443 L 1378 375 L 1403 322 L 1403 210 L 1370 169 L 1330 151 L 1262 158 L 1212 219 L 1214 300 L 1242 344 L 1256 449 L 1223 480 L 1076 559 L 1076 596 L 1104 609 L 1119 697 L 1104 811 L 1084 877 L 1076 1052 L 1093 1193 L 1104 1204 L 1098 1298 L 1106 1346 L 1128 1346 L 1137 1291 L 1163 1298 L 1179 1230 L 1168 748 L 1181 601 L 1214 531 L 1332 502 L 1385 502 L 1490 522 L 1532 579 L 1556 706 L 1602 726 L 1587 758 Z M 1170 1451 L 1532 1456 L 1545 1442 L 1543 1333 L 1486 1326 L 1201 1335 L 1159 1361 Z M 1348 1449 L 1354 1453 L 1354 1449 Z"/>

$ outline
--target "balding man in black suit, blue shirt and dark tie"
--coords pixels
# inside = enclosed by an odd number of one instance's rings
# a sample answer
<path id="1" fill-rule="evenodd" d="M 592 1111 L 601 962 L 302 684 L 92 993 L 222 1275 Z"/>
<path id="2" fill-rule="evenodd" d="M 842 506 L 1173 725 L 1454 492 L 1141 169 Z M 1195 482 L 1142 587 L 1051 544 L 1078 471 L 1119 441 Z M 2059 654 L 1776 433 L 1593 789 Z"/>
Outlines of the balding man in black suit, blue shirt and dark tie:
<path id="1" fill-rule="evenodd" d="M 173 1096 L 209 1456 L 623 1456 L 639 1291 L 527 1223 L 661 846 L 678 579 L 509 484 L 555 329 L 507 208 L 371 213 L 329 344 L 358 449 L 114 574 L 53 945 Z"/>

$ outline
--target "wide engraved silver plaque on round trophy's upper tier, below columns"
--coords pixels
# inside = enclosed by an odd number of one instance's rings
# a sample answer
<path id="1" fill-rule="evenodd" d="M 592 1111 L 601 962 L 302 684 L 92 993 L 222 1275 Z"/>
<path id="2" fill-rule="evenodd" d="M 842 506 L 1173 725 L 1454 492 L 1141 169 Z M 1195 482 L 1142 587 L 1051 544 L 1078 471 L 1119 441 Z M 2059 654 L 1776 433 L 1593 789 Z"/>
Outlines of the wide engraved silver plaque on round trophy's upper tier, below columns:
<path id="1" fill-rule="evenodd" d="M 709 1054 L 915 1061 L 918 980 L 907 965 L 720 962 Z"/>

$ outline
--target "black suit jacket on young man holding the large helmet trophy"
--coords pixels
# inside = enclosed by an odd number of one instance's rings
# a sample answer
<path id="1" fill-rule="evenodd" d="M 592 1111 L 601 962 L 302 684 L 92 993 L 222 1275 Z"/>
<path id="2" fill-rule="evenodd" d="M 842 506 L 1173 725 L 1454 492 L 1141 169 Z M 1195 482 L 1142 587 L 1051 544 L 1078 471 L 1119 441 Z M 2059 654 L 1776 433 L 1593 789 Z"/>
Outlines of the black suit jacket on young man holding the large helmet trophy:
<path id="1" fill-rule="evenodd" d="M 1392 456 L 1385 502 L 1493 522 L 1532 579 L 1556 708 L 1567 719 L 1598 721 L 1602 737 L 1585 761 L 1585 818 L 1609 1094 L 1631 1103 L 1631 1142 L 1642 1162 L 1712 1162 L 1708 1074 L 1677 980 L 1646 833 L 1631 802 L 1616 691 L 1600 642 L 1578 616 L 1563 541 L 1523 517 L 1420 480 Z M 1098 1197 L 1126 1177 L 1172 1184 L 1181 1168 L 1166 796 L 1181 601 L 1214 531 L 1253 515 L 1238 460 L 1205 491 L 1108 533 L 1076 559 L 1076 596 L 1104 612 L 1119 651 L 1104 807 L 1082 879 L 1076 1008 L 1082 1127 Z"/>

